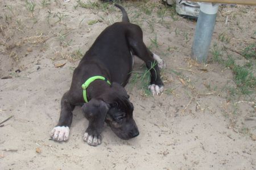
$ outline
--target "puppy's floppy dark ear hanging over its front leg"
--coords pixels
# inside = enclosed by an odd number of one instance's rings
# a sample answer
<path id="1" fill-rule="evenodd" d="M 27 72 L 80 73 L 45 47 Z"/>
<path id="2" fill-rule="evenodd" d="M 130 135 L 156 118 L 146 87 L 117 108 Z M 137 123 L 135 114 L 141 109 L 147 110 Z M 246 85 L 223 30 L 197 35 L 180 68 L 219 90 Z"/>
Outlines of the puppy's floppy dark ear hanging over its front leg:
<path id="1" fill-rule="evenodd" d="M 82 106 L 82 111 L 87 119 L 93 119 L 95 117 L 104 117 L 105 119 L 108 110 L 109 105 L 100 99 L 91 99 Z"/>

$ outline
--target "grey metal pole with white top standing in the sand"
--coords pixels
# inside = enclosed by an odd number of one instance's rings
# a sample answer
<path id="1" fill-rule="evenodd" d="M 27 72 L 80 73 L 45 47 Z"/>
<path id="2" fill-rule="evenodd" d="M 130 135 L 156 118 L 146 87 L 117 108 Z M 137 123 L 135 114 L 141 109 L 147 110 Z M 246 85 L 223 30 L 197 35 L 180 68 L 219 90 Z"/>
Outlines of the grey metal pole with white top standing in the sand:
<path id="1" fill-rule="evenodd" d="M 199 63 L 207 61 L 217 12 L 218 4 L 202 2 L 200 5 L 191 53 L 192 59 Z"/>

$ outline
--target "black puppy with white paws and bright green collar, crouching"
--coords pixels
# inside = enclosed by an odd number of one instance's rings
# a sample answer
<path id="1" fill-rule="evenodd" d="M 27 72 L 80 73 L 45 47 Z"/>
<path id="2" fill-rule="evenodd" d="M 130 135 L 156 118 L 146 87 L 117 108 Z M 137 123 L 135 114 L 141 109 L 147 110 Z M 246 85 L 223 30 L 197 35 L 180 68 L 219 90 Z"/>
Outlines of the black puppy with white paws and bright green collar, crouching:
<path id="1" fill-rule="evenodd" d="M 163 66 L 163 60 L 147 49 L 141 28 L 129 22 L 125 9 L 115 6 L 122 11 L 122 22 L 102 31 L 75 69 L 71 88 L 61 99 L 59 123 L 51 131 L 53 140 L 68 140 L 76 105 L 83 105 L 82 111 L 89 120 L 83 138 L 89 145 L 101 143 L 104 122 L 121 139 L 139 135 L 133 119 L 133 104 L 123 88 L 133 68 L 133 55 L 142 59 L 150 69 L 148 88 L 151 92 L 160 94 L 163 91 L 158 67 L 158 64 Z"/>

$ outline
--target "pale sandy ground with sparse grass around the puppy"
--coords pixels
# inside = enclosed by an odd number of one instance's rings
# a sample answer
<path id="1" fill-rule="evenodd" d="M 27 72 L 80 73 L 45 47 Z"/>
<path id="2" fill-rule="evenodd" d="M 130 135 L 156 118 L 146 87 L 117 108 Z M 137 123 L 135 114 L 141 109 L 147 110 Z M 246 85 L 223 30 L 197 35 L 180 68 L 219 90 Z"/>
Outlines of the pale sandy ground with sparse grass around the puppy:
<path id="1" fill-rule="evenodd" d="M 140 135 L 121 140 L 106 126 L 102 144 L 91 147 L 82 140 L 88 121 L 76 107 L 68 142 L 49 140 L 77 51 L 121 20 L 113 5 L 92 2 L 85 9 L 75 1 L 35 1 L 32 13 L 25 1 L 0 1 L 0 77 L 9 76 L 0 79 L 0 122 L 13 115 L 0 126 L 0 169 L 256 169 L 255 94 L 228 99 L 225 87 L 236 87 L 232 71 L 211 58 L 207 65 L 189 60 L 196 22 L 158 1 L 122 2 L 144 42 L 167 64 L 162 96 L 126 87 Z M 237 63 L 246 60 L 236 51 L 255 42 L 255 12 L 238 6 L 218 13 L 213 43 L 228 47 Z M 228 44 L 218 38 L 222 32 Z M 136 61 L 135 71 L 142 64 Z"/>

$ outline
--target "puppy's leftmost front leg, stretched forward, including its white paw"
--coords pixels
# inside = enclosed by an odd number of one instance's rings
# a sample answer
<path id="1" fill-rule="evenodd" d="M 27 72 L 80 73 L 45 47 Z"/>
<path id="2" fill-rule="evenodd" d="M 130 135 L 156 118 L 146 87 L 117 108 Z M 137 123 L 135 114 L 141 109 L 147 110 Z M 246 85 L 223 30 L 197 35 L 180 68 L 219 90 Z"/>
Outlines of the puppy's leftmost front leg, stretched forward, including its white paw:
<path id="1" fill-rule="evenodd" d="M 67 141 L 69 137 L 69 127 L 71 126 L 73 118 L 72 111 L 75 106 L 68 101 L 68 93 L 69 92 L 66 92 L 61 98 L 59 123 L 50 132 L 51 138 L 57 142 Z"/>

